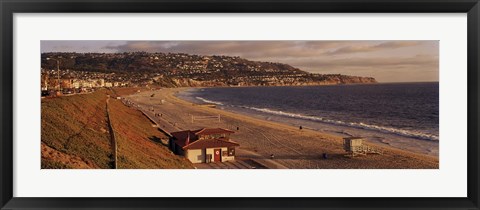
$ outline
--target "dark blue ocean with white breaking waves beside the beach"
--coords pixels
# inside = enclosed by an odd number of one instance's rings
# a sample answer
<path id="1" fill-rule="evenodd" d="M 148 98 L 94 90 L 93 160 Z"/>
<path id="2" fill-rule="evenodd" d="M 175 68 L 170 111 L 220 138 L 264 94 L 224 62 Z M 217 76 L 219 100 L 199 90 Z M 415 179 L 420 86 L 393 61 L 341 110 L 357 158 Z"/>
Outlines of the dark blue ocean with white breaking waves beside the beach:
<path id="1" fill-rule="evenodd" d="M 177 96 L 265 120 L 438 155 L 439 83 L 192 88 Z"/>

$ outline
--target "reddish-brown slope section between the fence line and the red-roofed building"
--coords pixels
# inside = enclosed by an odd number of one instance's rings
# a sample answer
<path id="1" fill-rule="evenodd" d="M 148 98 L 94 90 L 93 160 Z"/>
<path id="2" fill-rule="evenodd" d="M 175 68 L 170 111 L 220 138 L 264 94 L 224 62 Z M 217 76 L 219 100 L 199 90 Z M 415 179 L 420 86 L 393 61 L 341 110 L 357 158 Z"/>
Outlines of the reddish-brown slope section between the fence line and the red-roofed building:
<path id="1" fill-rule="evenodd" d="M 193 168 L 187 159 L 173 154 L 161 138 L 168 138 L 140 111 L 120 100 L 109 101 L 110 120 L 117 140 L 118 168 Z"/>

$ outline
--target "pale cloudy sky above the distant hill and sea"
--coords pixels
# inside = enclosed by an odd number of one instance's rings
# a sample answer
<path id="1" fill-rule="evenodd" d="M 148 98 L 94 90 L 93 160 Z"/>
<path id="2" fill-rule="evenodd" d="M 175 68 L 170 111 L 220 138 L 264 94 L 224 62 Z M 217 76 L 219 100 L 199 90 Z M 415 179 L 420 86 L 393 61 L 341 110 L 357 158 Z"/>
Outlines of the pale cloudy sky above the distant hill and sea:
<path id="1" fill-rule="evenodd" d="M 240 56 L 379 82 L 439 80 L 439 41 L 42 41 L 42 52 L 163 52 Z"/>

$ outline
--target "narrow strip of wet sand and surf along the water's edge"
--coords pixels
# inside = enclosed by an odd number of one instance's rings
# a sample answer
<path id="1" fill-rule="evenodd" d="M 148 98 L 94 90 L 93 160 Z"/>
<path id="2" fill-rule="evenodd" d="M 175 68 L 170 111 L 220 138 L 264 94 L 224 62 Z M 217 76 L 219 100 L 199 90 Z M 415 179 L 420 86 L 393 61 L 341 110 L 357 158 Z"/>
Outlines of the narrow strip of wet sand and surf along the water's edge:
<path id="1" fill-rule="evenodd" d="M 375 124 L 361 124 L 340 122 L 336 120 L 311 119 L 310 115 L 297 114 L 293 112 L 277 111 L 267 108 L 245 107 L 237 105 L 223 104 L 219 101 L 210 101 L 210 99 L 194 97 L 190 92 L 200 92 L 200 89 L 206 88 L 182 88 L 178 89 L 178 94 L 175 96 L 180 100 L 197 104 L 212 104 L 217 106 L 217 109 L 228 112 L 237 113 L 240 115 L 250 116 L 256 119 L 272 121 L 289 125 L 293 127 L 302 126 L 304 129 L 310 129 L 320 133 L 328 133 L 330 135 L 339 137 L 362 136 L 368 142 L 378 146 L 386 146 L 396 148 L 404 151 L 409 151 L 418 154 L 425 154 L 432 157 L 439 156 L 439 141 L 438 139 L 426 139 L 430 136 L 412 136 L 421 135 L 421 133 L 404 133 L 402 130 L 389 127 L 378 127 Z M 202 96 L 205 97 L 205 96 Z M 370 128 L 372 127 L 372 128 Z M 400 133 L 398 133 L 400 132 Z M 405 131 L 408 132 L 408 131 Z M 427 134 L 424 134 L 427 135 Z M 438 134 L 437 134 L 438 136 Z M 435 136 L 433 136 L 435 137 Z M 437 137 L 438 138 L 438 137 Z"/>

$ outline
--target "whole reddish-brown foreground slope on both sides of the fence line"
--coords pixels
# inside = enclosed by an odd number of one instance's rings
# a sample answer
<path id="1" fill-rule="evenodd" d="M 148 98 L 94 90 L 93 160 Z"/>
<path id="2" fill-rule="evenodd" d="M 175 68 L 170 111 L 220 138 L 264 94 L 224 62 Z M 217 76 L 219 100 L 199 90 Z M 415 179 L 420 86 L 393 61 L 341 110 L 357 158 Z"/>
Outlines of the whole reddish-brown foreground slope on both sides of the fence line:
<path id="1" fill-rule="evenodd" d="M 102 89 L 90 94 L 42 99 L 42 169 L 113 168 Z M 192 168 L 158 142 L 162 133 L 140 112 L 110 100 L 118 144 L 118 168 Z"/>

